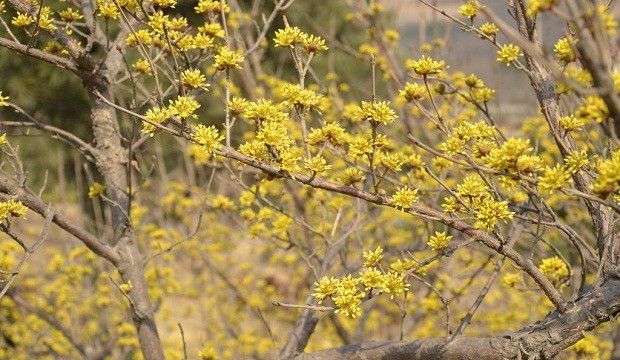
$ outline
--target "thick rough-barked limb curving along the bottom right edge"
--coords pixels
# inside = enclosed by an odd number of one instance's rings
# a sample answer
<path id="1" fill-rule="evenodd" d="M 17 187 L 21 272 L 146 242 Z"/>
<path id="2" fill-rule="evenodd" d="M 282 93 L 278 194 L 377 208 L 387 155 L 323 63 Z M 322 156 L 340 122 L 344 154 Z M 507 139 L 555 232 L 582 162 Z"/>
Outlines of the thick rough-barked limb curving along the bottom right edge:
<path id="1" fill-rule="evenodd" d="M 552 359 L 562 350 L 620 313 L 620 279 L 614 277 L 586 294 L 561 314 L 517 332 L 498 337 L 458 337 L 413 342 L 366 342 L 342 348 L 301 354 L 296 360 L 469 360 Z"/>

